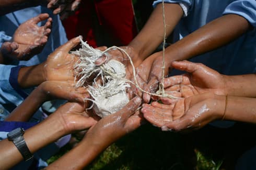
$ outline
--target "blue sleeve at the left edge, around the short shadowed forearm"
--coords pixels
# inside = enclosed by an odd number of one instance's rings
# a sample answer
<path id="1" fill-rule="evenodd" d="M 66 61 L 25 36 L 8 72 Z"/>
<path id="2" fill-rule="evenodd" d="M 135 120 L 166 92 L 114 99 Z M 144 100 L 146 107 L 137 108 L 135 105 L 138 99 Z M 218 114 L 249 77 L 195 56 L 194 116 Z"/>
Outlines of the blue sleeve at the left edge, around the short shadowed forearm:
<path id="1" fill-rule="evenodd" d="M 11 86 L 9 78 L 11 69 L 16 66 L 0 64 L 0 103 L 13 103 L 16 106 L 20 104 L 24 98 Z"/>

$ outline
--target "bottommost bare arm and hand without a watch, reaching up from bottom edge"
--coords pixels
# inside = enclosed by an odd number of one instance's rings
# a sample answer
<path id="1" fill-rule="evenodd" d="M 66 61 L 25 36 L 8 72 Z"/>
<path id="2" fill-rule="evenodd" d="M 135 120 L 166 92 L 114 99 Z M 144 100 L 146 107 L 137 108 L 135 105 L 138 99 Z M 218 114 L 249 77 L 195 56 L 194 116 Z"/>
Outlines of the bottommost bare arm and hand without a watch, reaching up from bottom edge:
<path id="1" fill-rule="evenodd" d="M 141 124 L 141 117 L 133 115 L 140 104 L 141 99 L 136 97 L 119 112 L 103 117 L 88 130 L 84 139 L 75 148 L 46 169 L 83 169 L 112 142 Z"/>

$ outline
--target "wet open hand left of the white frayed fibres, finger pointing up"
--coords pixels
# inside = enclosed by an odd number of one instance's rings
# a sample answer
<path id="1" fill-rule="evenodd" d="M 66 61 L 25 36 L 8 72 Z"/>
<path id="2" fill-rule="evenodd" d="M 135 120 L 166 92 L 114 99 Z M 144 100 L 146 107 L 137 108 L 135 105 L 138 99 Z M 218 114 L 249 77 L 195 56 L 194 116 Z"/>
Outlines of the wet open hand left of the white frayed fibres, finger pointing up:
<path id="1" fill-rule="evenodd" d="M 69 54 L 69 51 L 79 43 L 79 37 L 69 40 L 67 43 L 55 49 L 47 60 L 40 64 L 45 81 L 74 81 L 73 67 L 77 61 L 77 57 L 74 54 Z"/>

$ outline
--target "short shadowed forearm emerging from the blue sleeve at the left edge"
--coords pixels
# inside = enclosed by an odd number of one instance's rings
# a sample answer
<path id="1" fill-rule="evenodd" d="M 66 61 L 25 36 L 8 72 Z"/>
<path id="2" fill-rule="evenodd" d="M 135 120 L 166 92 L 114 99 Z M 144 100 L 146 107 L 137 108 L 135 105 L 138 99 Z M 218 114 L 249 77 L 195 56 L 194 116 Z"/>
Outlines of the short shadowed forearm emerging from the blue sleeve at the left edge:
<path id="1" fill-rule="evenodd" d="M 38 86 L 44 82 L 43 64 L 36 66 L 22 67 L 19 70 L 18 83 L 21 88 Z"/>

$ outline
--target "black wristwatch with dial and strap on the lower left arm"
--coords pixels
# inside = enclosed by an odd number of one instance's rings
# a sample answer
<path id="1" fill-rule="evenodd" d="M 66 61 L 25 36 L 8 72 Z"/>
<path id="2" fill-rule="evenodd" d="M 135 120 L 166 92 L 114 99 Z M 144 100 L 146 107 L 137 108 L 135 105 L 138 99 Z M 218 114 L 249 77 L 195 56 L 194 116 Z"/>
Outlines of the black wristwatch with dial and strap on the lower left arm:
<path id="1" fill-rule="evenodd" d="M 13 141 L 25 161 L 33 158 L 33 155 L 28 149 L 23 134 L 25 133 L 23 128 L 16 128 L 7 134 L 8 140 Z"/>

